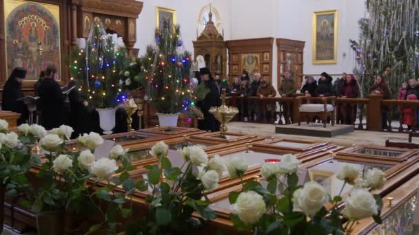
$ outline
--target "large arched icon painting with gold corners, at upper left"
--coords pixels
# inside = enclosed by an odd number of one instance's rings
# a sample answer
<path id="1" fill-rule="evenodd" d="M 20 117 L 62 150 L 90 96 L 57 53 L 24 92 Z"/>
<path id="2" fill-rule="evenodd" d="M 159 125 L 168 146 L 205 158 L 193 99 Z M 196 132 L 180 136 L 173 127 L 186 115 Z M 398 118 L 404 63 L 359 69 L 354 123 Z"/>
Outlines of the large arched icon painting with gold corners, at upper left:
<path id="1" fill-rule="evenodd" d="M 3 13 L 6 74 L 23 67 L 25 80 L 33 81 L 47 65 L 55 65 L 61 75 L 60 6 L 4 0 Z"/>

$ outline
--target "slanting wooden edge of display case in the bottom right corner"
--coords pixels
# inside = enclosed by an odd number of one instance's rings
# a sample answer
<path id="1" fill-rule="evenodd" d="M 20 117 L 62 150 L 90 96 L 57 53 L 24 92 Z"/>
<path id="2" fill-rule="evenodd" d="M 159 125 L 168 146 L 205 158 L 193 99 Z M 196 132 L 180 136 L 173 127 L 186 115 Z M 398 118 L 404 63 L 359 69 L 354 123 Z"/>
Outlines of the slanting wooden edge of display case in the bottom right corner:
<path id="1" fill-rule="evenodd" d="M 419 164 L 416 164 L 419 167 Z M 402 205 L 407 203 L 412 197 L 419 196 L 419 175 L 411 178 L 406 183 L 400 185 L 396 190 L 390 192 L 385 198 L 382 198 L 383 207 L 381 209 L 381 219 L 383 223 L 385 219 L 389 218 L 391 214 L 396 212 Z M 389 205 L 389 198 L 391 198 L 391 205 Z M 416 210 L 419 210 L 418 208 Z M 347 222 L 348 223 L 348 222 Z M 345 226 L 345 225 L 343 225 Z M 358 221 L 353 227 L 351 234 L 370 234 L 378 225 L 374 219 L 367 218 Z M 387 233 L 386 233 L 387 234 Z"/>

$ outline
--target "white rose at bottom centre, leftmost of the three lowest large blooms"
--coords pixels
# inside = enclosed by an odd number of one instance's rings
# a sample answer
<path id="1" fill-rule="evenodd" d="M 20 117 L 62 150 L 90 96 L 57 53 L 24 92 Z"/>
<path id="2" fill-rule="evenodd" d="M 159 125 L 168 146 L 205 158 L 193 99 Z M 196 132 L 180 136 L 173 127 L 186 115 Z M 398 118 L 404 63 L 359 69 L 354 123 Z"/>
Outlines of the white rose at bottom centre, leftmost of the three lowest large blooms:
<path id="1" fill-rule="evenodd" d="M 232 209 L 241 221 L 254 224 L 266 212 L 266 204 L 263 197 L 256 192 L 242 192 L 238 195 L 236 203 L 232 205 Z"/>

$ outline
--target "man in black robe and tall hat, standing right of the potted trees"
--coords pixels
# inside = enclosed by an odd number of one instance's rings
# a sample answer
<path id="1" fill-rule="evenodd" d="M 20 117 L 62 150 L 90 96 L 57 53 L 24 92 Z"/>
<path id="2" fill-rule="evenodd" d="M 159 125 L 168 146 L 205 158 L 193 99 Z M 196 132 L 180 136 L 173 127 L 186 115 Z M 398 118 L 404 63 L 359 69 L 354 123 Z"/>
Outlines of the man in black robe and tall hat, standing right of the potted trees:
<path id="1" fill-rule="evenodd" d="M 205 131 L 219 131 L 220 122 L 216 120 L 214 115 L 212 115 L 209 110 L 210 107 L 218 107 L 221 105 L 220 93 L 218 92 L 214 78 L 211 76 L 210 69 L 205 67 L 199 70 L 201 74 L 201 80 L 204 82 L 205 87 L 210 89 L 210 93 L 205 96 L 204 100 L 198 102 L 198 107 L 201 109 L 204 115 L 204 119 L 198 121 L 198 128 Z"/>

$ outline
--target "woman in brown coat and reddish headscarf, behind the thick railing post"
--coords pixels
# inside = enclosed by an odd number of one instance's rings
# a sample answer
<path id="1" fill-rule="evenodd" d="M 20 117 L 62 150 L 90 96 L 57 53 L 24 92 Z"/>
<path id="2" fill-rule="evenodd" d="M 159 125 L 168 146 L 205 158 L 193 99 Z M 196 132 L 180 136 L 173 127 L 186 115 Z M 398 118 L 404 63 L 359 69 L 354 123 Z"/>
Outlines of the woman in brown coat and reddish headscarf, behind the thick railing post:
<path id="1" fill-rule="evenodd" d="M 381 95 L 383 100 L 391 99 L 391 91 L 390 87 L 385 81 L 385 76 L 376 75 L 376 79 L 374 80 L 374 84 L 371 85 L 369 88 L 369 94 L 377 94 Z M 381 130 L 384 131 L 387 129 L 387 111 L 389 107 L 382 106 L 381 107 Z"/>

